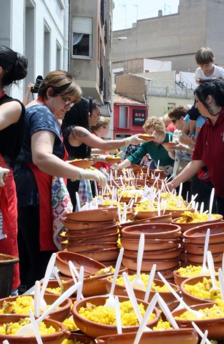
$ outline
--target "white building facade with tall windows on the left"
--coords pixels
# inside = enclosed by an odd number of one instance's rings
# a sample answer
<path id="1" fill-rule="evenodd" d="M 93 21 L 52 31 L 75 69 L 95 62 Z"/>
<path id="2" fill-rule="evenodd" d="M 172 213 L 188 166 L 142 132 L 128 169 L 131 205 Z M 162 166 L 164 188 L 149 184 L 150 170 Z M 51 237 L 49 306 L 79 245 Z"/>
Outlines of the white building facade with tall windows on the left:
<path id="1" fill-rule="evenodd" d="M 22 100 L 37 75 L 68 69 L 68 7 L 68 0 L 0 0 L 0 44 L 28 58 L 27 77 L 12 87 L 13 97 Z"/>

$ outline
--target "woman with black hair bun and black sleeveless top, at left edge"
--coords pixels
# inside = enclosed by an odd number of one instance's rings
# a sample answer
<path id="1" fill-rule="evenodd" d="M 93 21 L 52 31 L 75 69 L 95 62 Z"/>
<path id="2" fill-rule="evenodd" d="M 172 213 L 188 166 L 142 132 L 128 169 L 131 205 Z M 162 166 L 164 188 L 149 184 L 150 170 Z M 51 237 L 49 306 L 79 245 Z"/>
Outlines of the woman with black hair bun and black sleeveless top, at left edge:
<path id="1" fill-rule="evenodd" d="M 7 96 L 3 89 L 12 83 L 18 84 L 26 75 L 26 57 L 0 45 L 0 253 L 16 257 L 17 199 L 12 167 L 22 144 L 25 108 L 19 100 Z M 19 285 L 19 264 L 15 264 L 14 293 Z"/>

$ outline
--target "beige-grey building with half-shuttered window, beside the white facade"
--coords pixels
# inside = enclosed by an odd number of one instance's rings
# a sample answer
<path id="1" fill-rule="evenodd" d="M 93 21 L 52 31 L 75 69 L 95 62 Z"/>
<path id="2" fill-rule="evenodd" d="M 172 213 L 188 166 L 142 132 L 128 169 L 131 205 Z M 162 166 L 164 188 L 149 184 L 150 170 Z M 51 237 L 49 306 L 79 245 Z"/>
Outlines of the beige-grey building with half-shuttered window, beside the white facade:
<path id="1" fill-rule="evenodd" d="M 70 1 L 69 71 L 103 115 L 110 115 L 112 10 L 112 0 Z"/>

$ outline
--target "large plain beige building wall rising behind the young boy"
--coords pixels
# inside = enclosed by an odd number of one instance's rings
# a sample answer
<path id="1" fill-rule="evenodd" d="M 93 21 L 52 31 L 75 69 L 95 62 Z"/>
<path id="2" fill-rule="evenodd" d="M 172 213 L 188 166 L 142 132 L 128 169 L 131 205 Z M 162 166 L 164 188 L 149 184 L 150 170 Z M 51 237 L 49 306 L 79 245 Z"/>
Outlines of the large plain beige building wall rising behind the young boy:
<path id="1" fill-rule="evenodd" d="M 136 58 L 172 61 L 177 73 L 194 72 L 200 47 L 214 51 L 215 63 L 224 65 L 224 0 L 180 0 L 176 14 L 138 20 L 131 29 L 113 31 L 113 69 Z"/>

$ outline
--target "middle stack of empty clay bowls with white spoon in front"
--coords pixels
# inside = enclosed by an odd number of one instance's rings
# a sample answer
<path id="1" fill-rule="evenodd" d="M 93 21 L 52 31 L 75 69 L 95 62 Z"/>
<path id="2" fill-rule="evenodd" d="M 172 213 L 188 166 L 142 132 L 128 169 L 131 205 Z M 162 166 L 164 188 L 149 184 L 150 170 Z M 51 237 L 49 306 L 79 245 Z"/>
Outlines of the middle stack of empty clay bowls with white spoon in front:
<path id="1" fill-rule="evenodd" d="M 149 273 L 153 264 L 157 264 L 157 271 L 161 271 L 166 279 L 172 279 L 173 270 L 179 266 L 180 227 L 164 223 L 147 223 L 122 228 L 121 243 L 125 249 L 122 263 L 128 268 L 129 274 L 136 273 L 141 233 L 145 234 L 142 272 Z"/>

